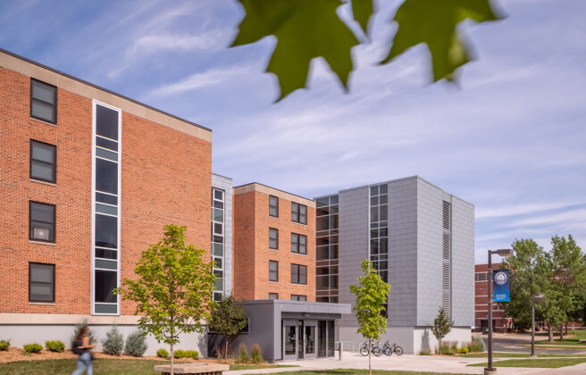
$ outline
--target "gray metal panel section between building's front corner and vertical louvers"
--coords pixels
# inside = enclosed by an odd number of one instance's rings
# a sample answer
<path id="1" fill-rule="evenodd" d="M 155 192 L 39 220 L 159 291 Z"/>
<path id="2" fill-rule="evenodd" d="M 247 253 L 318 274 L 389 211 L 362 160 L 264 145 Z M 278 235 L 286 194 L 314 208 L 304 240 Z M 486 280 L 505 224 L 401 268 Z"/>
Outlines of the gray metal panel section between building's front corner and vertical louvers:
<path id="1" fill-rule="evenodd" d="M 445 193 L 417 179 L 417 324 L 429 326 L 442 303 L 442 206 Z M 446 195 L 451 203 L 451 197 Z M 471 268 L 473 270 L 473 267 Z M 470 306 L 473 311 L 473 304 Z"/>

